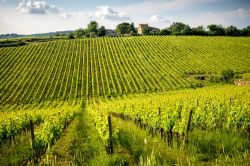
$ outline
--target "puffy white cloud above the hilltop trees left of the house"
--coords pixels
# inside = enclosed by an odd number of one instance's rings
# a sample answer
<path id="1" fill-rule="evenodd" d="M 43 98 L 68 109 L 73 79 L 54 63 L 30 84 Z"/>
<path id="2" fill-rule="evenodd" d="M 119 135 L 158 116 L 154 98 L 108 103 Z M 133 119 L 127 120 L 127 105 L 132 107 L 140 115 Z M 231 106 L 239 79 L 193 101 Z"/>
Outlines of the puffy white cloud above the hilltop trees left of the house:
<path id="1" fill-rule="evenodd" d="M 87 15 L 90 18 L 101 18 L 107 20 L 130 20 L 124 12 L 116 12 L 109 6 L 97 6 L 96 11 L 89 12 Z"/>

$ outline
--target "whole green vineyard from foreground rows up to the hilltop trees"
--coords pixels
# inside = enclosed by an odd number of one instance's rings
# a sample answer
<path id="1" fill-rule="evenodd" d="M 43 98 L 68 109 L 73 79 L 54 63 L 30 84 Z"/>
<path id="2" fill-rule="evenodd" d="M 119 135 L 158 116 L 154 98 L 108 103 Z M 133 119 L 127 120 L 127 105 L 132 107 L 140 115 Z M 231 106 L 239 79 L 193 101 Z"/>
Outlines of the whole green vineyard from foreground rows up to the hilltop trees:
<path id="1" fill-rule="evenodd" d="M 250 87 L 199 88 L 190 77 L 247 76 L 249 42 L 141 36 L 0 48 L 0 165 L 247 165 Z"/>

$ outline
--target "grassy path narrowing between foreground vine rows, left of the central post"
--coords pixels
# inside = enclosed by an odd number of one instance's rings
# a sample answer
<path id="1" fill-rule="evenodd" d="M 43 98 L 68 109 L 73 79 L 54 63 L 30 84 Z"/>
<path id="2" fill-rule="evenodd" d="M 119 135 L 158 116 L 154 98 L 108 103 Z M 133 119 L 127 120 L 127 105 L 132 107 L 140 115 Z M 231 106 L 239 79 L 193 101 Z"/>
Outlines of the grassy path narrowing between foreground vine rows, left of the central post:
<path id="1" fill-rule="evenodd" d="M 128 165 L 134 161 L 128 150 L 115 145 L 115 153 L 108 155 L 103 140 L 95 128 L 92 117 L 83 107 L 82 111 L 41 163 L 49 165 Z M 131 164 L 129 164 L 131 165 Z"/>

